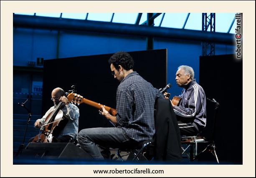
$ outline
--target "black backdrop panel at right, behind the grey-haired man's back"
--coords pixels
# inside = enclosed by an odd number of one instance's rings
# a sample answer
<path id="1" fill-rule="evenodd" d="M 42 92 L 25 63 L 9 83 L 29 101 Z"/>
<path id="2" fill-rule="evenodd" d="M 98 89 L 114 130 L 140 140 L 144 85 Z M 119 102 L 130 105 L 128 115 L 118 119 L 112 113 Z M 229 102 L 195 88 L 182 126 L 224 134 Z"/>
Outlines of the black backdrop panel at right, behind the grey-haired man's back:
<path id="1" fill-rule="evenodd" d="M 215 142 L 221 162 L 242 163 L 242 67 L 242 59 L 235 59 L 232 54 L 200 57 L 200 85 L 205 90 L 206 97 L 214 98 L 220 104 Z M 207 104 L 205 134 L 209 135 L 215 105 L 209 102 Z"/>

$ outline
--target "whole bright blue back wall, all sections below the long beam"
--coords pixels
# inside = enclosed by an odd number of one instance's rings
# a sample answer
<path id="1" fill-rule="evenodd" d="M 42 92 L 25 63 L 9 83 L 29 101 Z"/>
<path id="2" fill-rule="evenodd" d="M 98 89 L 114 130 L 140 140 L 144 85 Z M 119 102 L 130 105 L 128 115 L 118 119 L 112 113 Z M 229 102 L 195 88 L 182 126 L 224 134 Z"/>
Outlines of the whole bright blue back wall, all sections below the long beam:
<path id="1" fill-rule="evenodd" d="M 44 60 L 57 57 L 76 57 L 94 54 L 146 49 L 146 38 L 123 35 L 102 35 L 97 33 L 78 33 L 61 31 L 57 49 L 58 32 L 56 30 L 13 29 L 13 65 L 27 66 L 28 61 L 36 62 L 37 57 Z M 199 76 L 199 56 L 202 53 L 201 42 L 154 39 L 154 49 L 167 49 L 167 83 L 171 96 L 180 94 L 181 88 L 175 84 L 175 73 L 180 65 L 189 65 Z M 57 53 L 58 50 L 58 53 Z M 232 54 L 231 45 L 215 44 L 215 54 Z M 36 66 L 35 66 L 36 67 Z M 154 71 L 154 69 L 150 69 Z M 157 74 L 156 74 L 157 75 Z M 161 77 L 161 76 L 159 76 Z M 15 84 L 15 83 L 14 83 Z M 163 87 L 165 84 L 163 84 Z"/>

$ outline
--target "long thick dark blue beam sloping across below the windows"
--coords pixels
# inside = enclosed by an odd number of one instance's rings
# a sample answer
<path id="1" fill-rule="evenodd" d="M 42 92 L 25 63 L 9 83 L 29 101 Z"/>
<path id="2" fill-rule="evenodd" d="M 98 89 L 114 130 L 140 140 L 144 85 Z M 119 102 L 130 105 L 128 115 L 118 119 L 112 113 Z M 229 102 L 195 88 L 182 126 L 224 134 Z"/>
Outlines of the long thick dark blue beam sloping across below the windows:
<path id="1" fill-rule="evenodd" d="M 201 30 L 186 30 L 29 15 L 13 15 L 13 27 L 98 32 L 107 34 L 134 35 L 140 37 L 159 37 L 176 40 L 209 41 L 225 44 L 233 44 L 234 40 L 234 34 L 228 33 L 211 33 L 202 32 Z"/>

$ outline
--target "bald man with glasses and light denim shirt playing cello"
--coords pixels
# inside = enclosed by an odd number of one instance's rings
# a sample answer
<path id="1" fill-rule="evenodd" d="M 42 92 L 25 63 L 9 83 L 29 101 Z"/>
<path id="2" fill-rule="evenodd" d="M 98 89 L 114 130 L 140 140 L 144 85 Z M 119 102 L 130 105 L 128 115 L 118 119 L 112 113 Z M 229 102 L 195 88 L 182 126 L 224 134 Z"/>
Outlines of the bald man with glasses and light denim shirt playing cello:
<path id="1" fill-rule="evenodd" d="M 46 121 L 46 117 L 51 111 L 53 111 L 59 102 L 63 102 L 65 106 L 61 109 L 63 111 L 63 116 L 65 119 L 68 119 L 66 126 L 63 130 L 60 131 L 58 136 L 53 138 L 52 142 L 68 142 L 71 138 L 76 138 L 78 135 L 78 118 L 79 118 L 79 109 L 74 104 L 71 104 L 70 101 L 65 96 L 65 92 L 61 88 L 53 89 L 51 92 L 51 100 L 53 101 L 54 106 L 52 106 L 42 119 L 35 121 L 34 126 L 40 128 Z M 33 139 L 32 139 L 33 140 Z M 30 139 L 30 141 L 32 141 Z"/>

